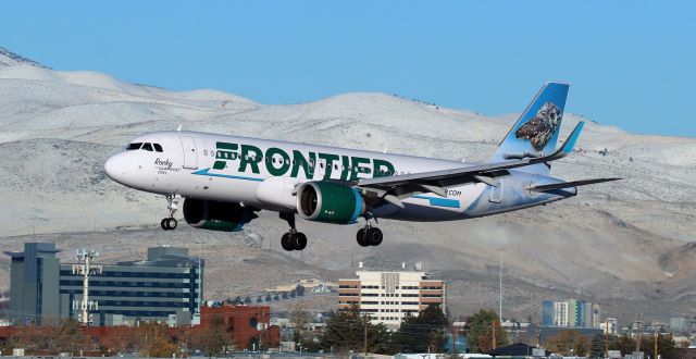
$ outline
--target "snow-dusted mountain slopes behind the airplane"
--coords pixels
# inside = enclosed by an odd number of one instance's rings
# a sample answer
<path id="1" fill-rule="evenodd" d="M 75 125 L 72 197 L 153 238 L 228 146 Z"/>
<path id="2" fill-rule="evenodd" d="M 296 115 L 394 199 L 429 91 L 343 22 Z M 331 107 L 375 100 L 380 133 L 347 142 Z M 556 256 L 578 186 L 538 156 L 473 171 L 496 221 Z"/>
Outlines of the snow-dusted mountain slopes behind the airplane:
<path id="1" fill-rule="evenodd" d="M 531 98 L 534 90 L 520 98 Z M 570 96 L 572 106 L 572 89 Z M 586 119 L 567 114 L 561 136 L 581 120 Z M 244 264 L 249 269 L 249 263 L 268 265 L 269 258 L 300 259 L 261 250 L 269 245 L 279 250 L 286 224 L 273 215 L 262 215 L 235 235 L 158 231 L 164 200 L 109 181 L 104 159 L 141 133 L 182 124 L 194 131 L 475 161 L 494 151 L 513 121 L 514 115 L 489 117 L 369 92 L 265 106 L 215 90 L 175 92 L 96 72 L 53 71 L 0 48 L 0 236 L 5 237 L 0 249 L 20 249 L 32 238 L 25 235 L 38 233 L 41 240 L 64 243 L 71 252 L 74 238 L 90 238 L 88 245 L 102 252 L 110 248 L 133 259 L 148 245 L 181 244 L 182 236 L 190 236 L 204 237 L 210 256 L 250 260 Z M 689 242 L 696 240 L 696 139 L 633 135 L 587 121 L 575 153 L 554 165 L 554 174 L 566 180 L 625 180 L 583 187 L 571 200 L 486 219 L 384 221 L 385 244 L 377 248 L 357 246 L 356 226 L 301 222 L 310 244 L 301 261 L 287 265 L 332 276 L 349 273 L 357 261 L 373 268 L 421 261 L 450 282 L 451 308 L 465 312 L 494 307 L 501 255 L 511 314 L 538 311 L 542 298 L 556 296 L 596 300 L 618 315 L 633 310 L 625 300 L 659 313 L 667 313 L 663 302 L 669 301 L 672 314 L 696 313 L 689 305 L 696 268 L 681 255 L 693 251 Z M 90 231 L 98 233 L 53 235 Z M 246 246 L 258 250 L 241 250 Z M 0 260 L 0 268 L 8 264 Z M 222 275 L 228 270 L 209 268 L 209 296 L 260 289 L 253 286 L 262 273 Z M 5 273 L 0 289 L 7 288 L 7 271 L 0 273 Z"/>

